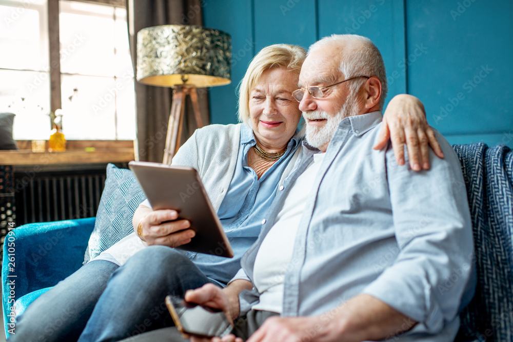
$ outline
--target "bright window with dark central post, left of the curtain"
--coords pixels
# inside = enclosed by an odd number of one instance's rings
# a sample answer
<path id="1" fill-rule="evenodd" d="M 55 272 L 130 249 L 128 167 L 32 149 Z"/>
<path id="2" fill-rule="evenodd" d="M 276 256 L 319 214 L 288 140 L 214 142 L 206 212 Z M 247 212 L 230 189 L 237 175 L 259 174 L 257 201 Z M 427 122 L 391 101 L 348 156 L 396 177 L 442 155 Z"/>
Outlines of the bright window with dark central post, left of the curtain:
<path id="1" fill-rule="evenodd" d="M 61 0 L 59 70 L 49 60 L 49 14 L 47 0 L 0 0 L 0 111 L 16 114 L 14 138 L 48 138 L 50 75 L 58 73 L 67 139 L 134 139 L 125 8 Z"/>

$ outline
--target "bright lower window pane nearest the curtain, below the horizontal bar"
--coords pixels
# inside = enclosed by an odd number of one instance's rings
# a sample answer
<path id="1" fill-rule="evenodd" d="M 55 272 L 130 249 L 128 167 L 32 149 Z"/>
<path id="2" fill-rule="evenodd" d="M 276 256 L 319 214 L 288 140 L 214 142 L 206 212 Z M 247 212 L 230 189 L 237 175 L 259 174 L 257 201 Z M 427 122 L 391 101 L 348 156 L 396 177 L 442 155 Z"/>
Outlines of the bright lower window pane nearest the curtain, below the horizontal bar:
<path id="1" fill-rule="evenodd" d="M 61 89 L 63 132 L 67 139 L 116 138 L 117 90 L 113 78 L 62 75 Z"/>

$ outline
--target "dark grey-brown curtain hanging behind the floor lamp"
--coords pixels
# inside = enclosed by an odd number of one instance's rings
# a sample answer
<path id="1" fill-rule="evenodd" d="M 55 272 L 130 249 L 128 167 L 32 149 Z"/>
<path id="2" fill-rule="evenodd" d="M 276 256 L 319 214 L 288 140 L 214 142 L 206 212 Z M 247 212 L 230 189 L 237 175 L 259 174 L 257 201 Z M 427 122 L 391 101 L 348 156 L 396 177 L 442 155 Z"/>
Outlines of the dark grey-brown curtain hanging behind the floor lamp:
<path id="1" fill-rule="evenodd" d="M 202 0 L 127 0 L 130 52 L 136 73 L 136 46 L 139 30 L 157 25 L 203 25 Z M 135 81 L 137 117 L 137 151 L 139 160 L 162 163 L 166 132 L 171 110 L 171 88 L 146 86 Z M 205 125 L 210 123 L 208 90 L 198 89 L 200 110 Z M 182 130 L 182 144 L 198 128 L 192 112 L 190 98 L 186 101 L 186 114 Z"/>

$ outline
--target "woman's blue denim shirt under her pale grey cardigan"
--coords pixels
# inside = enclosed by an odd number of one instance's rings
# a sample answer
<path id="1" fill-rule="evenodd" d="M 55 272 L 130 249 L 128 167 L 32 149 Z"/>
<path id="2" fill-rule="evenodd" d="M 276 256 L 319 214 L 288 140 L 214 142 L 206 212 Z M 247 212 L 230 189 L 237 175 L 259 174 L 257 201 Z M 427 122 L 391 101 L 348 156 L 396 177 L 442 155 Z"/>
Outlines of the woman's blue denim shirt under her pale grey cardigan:
<path id="1" fill-rule="evenodd" d="M 282 172 L 294 152 L 301 146 L 298 132 L 287 145 L 287 151 L 261 177 L 248 167 L 247 153 L 254 146 L 253 131 L 241 127 L 237 164 L 218 216 L 235 255 L 233 258 L 186 252 L 186 255 L 210 279 L 227 284 L 240 269 L 241 257 L 260 234 L 262 219 L 277 192 Z"/>

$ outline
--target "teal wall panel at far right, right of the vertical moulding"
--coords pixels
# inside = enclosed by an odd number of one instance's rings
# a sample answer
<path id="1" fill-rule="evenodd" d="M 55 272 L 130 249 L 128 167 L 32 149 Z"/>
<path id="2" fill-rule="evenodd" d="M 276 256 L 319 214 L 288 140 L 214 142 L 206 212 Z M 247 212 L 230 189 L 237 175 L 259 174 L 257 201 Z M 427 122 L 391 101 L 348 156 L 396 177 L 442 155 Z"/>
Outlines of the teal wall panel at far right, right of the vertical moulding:
<path id="1" fill-rule="evenodd" d="M 493 145 L 513 128 L 513 4 L 510 1 L 407 1 L 408 90 L 449 142 Z M 513 145 L 510 143 L 510 145 Z"/>

